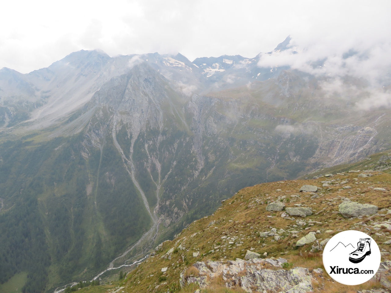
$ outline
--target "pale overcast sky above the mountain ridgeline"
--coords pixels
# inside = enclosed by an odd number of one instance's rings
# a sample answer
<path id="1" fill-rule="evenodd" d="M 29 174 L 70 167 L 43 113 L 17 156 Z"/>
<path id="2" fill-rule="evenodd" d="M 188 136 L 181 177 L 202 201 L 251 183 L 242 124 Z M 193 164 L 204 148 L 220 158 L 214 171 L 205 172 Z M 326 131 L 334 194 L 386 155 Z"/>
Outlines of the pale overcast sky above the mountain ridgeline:
<path id="1" fill-rule="evenodd" d="M 95 48 L 111 56 L 181 52 L 190 60 L 254 57 L 291 35 L 292 50 L 300 58 L 293 61 L 286 52 L 265 56 L 260 65 L 303 69 L 327 56 L 332 73 L 352 49 L 356 60 L 347 70 L 366 59 L 360 71 L 376 71 L 373 76 L 379 79 L 391 65 L 390 12 L 391 1 L 357 0 L 6 1 L 0 13 L 0 68 L 27 73 L 70 52 Z"/>

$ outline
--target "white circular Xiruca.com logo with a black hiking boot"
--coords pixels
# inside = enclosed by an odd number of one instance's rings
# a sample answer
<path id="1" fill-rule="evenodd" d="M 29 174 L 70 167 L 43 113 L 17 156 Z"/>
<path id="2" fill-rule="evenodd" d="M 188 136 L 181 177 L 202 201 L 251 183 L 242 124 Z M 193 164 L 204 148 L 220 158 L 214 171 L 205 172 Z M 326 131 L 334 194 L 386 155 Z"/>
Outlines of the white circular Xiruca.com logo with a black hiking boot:
<path id="1" fill-rule="evenodd" d="M 380 250 L 371 236 L 348 230 L 334 235 L 323 250 L 323 266 L 334 280 L 359 285 L 371 279 L 380 266 Z"/>

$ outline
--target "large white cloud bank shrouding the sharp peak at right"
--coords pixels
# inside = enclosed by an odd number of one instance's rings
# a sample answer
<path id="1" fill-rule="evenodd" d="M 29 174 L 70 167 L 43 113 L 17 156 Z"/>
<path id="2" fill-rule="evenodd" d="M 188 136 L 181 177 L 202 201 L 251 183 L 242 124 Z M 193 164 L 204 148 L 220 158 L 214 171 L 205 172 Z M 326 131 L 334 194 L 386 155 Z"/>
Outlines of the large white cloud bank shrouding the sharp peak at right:
<path id="1" fill-rule="evenodd" d="M 357 109 L 391 106 L 390 92 L 383 90 L 391 84 L 390 42 L 334 39 L 308 43 L 292 38 L 285 50 L 260 57 L 260 67 L 289 66 L 314 75 L 325 97 L 351 99 Z"/>

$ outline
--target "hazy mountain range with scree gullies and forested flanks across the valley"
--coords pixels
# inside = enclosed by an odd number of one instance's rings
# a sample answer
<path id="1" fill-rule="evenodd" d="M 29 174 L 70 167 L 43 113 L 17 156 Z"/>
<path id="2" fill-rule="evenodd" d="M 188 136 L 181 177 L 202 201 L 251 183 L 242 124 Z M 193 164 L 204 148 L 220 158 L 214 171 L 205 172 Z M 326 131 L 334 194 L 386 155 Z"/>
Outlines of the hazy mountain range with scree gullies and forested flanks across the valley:
<path id="1" fill-rule="evenodd" d="M 389 109 L 260 58 L 81 50 L 2 68 L 0 282 L 25 272 L 23 290 L 42 292 L 93 277 L 241 188 L 390 148 Z"/>

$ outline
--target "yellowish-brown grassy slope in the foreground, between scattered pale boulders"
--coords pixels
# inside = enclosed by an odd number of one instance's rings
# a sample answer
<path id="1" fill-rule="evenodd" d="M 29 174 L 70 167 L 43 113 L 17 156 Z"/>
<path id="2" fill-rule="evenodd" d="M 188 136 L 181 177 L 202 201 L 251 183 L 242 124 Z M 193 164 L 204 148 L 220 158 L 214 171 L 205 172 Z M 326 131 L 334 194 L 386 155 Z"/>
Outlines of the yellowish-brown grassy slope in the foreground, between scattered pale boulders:
<path id="1" fill-rule="evenodd" d="M 381 155 L 374 155 L 374 157 L 378 156 Z M 340 167 L 345 168 L 345 166 Z M 193 222 L 181 232 L 178 238 L 164 242 L 161 250 L 129 273 L 126 280 L 113 282 L 111 285 L 99 286 L 99 289 L 106 288 L 105 292 L 111 292 L 118 289 L 119 286 L 123 286 L 124 288 L 121 291 L 125 292 L 167 292 L 167 289 L 173 288 L 174 284 L 178 283 L 179 273 L 183 269 L 189 268 L 196 261 L 224 260 L 224 257 L 226 259 L 244 258 L 246 251 L 250 248 L 255 248 L 254 251 L 260 254 L 267 252 L 268 257 L 282 256 L 293 266 L 322 268 L 321 252 L 309 252 L 311 245 L 296 247 L 296 241 L 310 231 L 320 232 L 316 234 L 316 238 L 320 242 L 321 239 L 331 238 L 342 230 L 362 230 L 375 239 L 380 251 L 389 251 L 389 246 L 383 243 L 391 238 L 390 231 L 384 229 L 368 231 L 361 225 L 355 224 L 363 221 L 370 225 L 370 223 L 389 220 L 391 214 L 386 215 L 386 211 L 379 211 L 382 215 L 364 216 L 363 219 L 347 219 L 338 213 L 338 205 L 341 203 L 342 197 L 360 203 L 375 204 L 379 209 L 390 208 L 391 175 L 384 172 L 373 172 L 372 174 L 372 177 L 360 178 L 359 180 L 355 180 L 358 175 L 355 172 L 335 174 L 332 177 L 332 180 L 335 180 L 332 184 L 348 181 L 344 185 L 349 184 L 352 189 L 343 189 L 341 185 L 331 186 L 328 189 L 323 188 L 318 191 L 320 197 L 317 198 L 311 198 L 312 195 L 309 193 L 300 193 L 300 187 L 303 184 L 321 187 L 321 181 L 330 180 L 330 178 L 320 177 L 312 180 L 272 182 L 244 188 L 235 196 L 226 200 L 212 216 Z M 374 191 L 373 188 L 376 187 L 386 188 L 387 191 Z M 277 191 L 277 189 L 282 190 Z M 307 225 L 292 227 L 295 221 L 280 217 L 282 212 L 267 212 L 265 210 L 267 201 L 278 200 L 279 198 L 282 199 L 286 207 L 294 206 L 294 204 L 312 207 L 313 214 L 311 216 L 299 219 L 305 220 Z M 258 202 L 256 202 L 257 200 Z M 317 221 L 321 224 L 313 223 L 314 225 L 311 225 L 308 221 Z M 279 241 L 272 240 L 272 237 L 260 238 L 258 232 L 270 231 L 270 227 L 275 227 L 277 230 L 296 230 L 298 231 L 298 238 L 292 237 L 291 233 L 283 233 L 282 239 Z M 371 228 L 371 226 L 368 227 Z M 332 232 L 326 232 L 328 230 L 332 230 Z M 224 235 L 238 238 L 234 241 L 234 244 L 229 244 L 228 241 L 221 239 L 221 236 Z M 187 250 L 179 250 L 179 244 L 185 246 Z M 173 247 L 175 249 L 171 254 L 171 259 L 162 258 L 162 255 Z M 196 251 L 200 252 L 199 257 L 192 256 L 193 252 Z M 165 274 L 161 273 L 163 267 L 169 268 Z M 165 284 L 166 282 L 167 284 Z M 157 285 L 160 286 L 156 288 Z M 366 282 L 357 286 L 357 288 L 349 286 L 339 286 L 337 288 L 325 275 L 324 280 L 318 278 L 314 281 L 314 286 L 316 291 L 323 288 L 330 292 L 350 292 L 349 290 L 352 289 L 368 289 L 374 286 L 377 287 L 379 284 Z M 83 290 L 85 292 L 95 292 L 95 289 L 92 288 L 82 289 L 80 292 L 83 293 Z M 194 292 L 194 288 L 182 289 L 182 292 L 190 291 Z"/>

